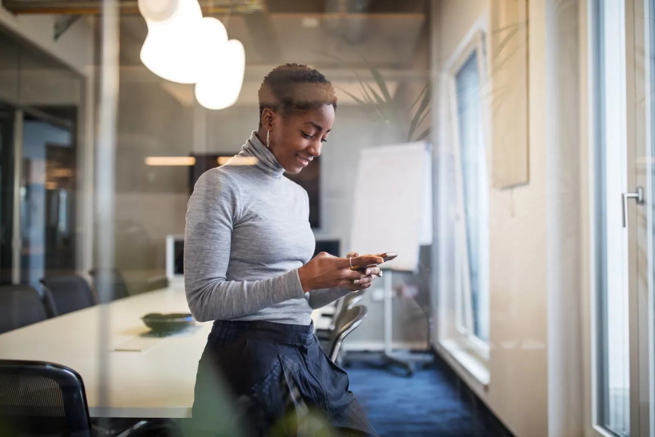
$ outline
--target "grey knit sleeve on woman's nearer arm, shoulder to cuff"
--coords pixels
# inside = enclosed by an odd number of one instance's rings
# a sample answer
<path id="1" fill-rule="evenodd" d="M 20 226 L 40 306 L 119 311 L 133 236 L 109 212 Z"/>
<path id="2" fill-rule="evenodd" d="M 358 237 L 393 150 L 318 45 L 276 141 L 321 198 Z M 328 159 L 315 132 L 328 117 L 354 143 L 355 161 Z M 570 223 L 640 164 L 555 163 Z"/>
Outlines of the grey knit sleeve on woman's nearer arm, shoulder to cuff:
<path id="1" fill-rule="evenodd" d="M 189 199 L 184 283 L 191 314 L 200 322 L 253 314 L 305 295 L 297 269 L 265 280 L 226 280 L 239 202 L 238 186 L 218 170 L 200 176 Z"/>

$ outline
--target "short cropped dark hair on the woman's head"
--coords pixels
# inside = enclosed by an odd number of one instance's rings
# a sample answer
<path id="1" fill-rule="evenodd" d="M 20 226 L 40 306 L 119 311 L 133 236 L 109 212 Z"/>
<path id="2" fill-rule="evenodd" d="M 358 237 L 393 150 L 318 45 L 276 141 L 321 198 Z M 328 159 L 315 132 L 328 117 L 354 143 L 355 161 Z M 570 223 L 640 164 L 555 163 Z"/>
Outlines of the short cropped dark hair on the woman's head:
<path id="1" fill-rule="evenodd" d="M 259 87 L 259 127 L 265 108 L 282 116 L 332 105 L 337 109 L 334 87 L 318 70 L 299 64 L 275 67 Z"/>

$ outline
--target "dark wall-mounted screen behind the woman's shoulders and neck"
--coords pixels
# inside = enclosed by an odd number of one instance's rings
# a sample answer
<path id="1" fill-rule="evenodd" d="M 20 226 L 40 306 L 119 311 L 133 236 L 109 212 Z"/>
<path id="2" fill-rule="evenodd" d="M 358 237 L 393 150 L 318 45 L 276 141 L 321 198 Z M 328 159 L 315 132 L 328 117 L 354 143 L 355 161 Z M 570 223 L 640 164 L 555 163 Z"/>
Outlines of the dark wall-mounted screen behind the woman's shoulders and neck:
<path id="1" fill-rule="evenodd" d="M 193 193 L 193 187 L 200 175 L 207 170 L 219 166 L 227 158 L 236 155 L 237 152 L 231 153 L 212 153 L 209 155 L 192 155 L 195 158 L 195 164 L 189 167 L 189 195 Z M 285 173 L 284 176 L 294 181 L 307 191 L 309 197 L 309 224 L 312 229 L 317 229 L 321 225 L 320 211 L 320 157 L 314 158 L 305 169 L 299 174 Z"/>

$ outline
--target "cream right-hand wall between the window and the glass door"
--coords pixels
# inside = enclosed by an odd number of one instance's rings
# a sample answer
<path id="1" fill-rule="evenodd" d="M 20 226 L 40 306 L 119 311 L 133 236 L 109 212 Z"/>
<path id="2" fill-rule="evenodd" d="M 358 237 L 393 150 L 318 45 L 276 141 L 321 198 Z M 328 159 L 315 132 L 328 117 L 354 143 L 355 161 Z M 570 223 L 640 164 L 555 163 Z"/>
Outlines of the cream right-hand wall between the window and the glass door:
<path id="1" fill-rule="evenodd" d="M 553 3 L 533 2 L 529 8 L 530 181 L 489 192 L 489 385 L 481 385 L 437 345 L 441 356 L 517 437 L 580 435 L 578 61 L 575 48 L 573 53 L 563 50 L 577 45 L 578 12 L 576 2 L 569 2 L 573 7 L 556 14 Z M 490 2 L 435 4 L 432 49 L 441 71 Z M 445 119 L 436 123 L 440 130 L 447 128 Z M 447 235 L 438 238 L 445 238 L 449 249 L 440 256 L 452 256 L 452 241 Z M 448 294 L 453 273 L 440 275 L 448 276 L 440 282 L 440 293 Z"/>

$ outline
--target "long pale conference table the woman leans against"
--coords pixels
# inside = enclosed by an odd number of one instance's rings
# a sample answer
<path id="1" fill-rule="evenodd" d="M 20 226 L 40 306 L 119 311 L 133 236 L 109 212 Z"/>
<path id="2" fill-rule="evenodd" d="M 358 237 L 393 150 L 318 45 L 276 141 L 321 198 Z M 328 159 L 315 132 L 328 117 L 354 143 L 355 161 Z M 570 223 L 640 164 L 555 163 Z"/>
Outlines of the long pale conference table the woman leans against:
<path id="1" fill-rule="evenodd" d="M 147 313 L 189 313 L 183 284 L 3 333 L 0 359 L 53 362 L 77 371 L 92 417 L 191 417 L 198 360 L 212 322 L 151 337 L 141 321 Z M 326 324 L 321 313 L 312 313 L 317 327 Z"/>

